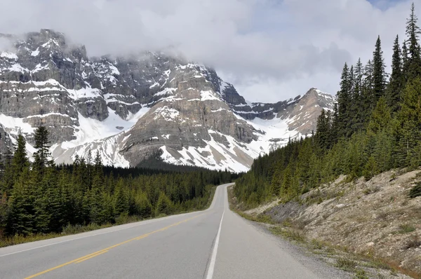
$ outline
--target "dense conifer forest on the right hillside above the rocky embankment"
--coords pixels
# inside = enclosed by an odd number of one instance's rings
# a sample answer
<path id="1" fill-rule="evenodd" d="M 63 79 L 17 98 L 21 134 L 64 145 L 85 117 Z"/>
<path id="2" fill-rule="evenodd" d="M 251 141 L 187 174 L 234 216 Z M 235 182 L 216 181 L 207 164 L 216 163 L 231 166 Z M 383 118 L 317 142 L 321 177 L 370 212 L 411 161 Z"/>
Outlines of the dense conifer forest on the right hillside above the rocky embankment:
<path id="1" fill-rule="evenodd" d="M 288 201 L 339 175 L 366 177 L 421 165 L 421 48 L 414 4 L 406 39 L 396 36 L 392 73 L 385 72 L 380 36 L 373 59 L 345 64 L 337 103 L 322 111 L 312 137 L 290 140 L 261 156 L 236 182 L 247 207 L 281 197 Z M 420 196 L 415 186 L 410 197 Z"/>

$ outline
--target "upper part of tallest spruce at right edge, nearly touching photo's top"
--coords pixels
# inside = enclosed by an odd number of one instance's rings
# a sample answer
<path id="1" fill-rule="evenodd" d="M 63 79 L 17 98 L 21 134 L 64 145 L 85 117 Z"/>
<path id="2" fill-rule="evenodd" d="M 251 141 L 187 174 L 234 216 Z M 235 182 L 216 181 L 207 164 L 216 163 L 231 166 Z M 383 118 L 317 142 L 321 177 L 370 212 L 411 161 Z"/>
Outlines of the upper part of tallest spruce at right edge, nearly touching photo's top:
<path id="1" fill-rule="evenodd" d="M 415 15 L 415 4 L 410 7 L 410 15 L 406 21 L 406 35 L 408 36 L 408 80 L 415 79 L 421 74 L 420 44 L 418 37 L 420 27 L 417 26 L 418 18 Z"/>

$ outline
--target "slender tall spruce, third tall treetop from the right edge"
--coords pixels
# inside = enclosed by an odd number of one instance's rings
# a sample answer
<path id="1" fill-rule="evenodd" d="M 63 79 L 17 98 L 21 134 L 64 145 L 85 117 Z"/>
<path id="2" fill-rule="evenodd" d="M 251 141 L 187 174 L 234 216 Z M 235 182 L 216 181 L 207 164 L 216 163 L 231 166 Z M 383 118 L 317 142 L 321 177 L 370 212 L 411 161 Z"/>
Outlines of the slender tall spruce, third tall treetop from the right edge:
<path id="1" fill-rule="evenodd" d="M 375 50 L 373 53 L 373 99 L 371 108 L 374 109 L 377 101 L 385 95 L 386 90 L 386 72 L 385 59 L 383 58 L 382 41 L 380 36 L 377 37 Z"/>

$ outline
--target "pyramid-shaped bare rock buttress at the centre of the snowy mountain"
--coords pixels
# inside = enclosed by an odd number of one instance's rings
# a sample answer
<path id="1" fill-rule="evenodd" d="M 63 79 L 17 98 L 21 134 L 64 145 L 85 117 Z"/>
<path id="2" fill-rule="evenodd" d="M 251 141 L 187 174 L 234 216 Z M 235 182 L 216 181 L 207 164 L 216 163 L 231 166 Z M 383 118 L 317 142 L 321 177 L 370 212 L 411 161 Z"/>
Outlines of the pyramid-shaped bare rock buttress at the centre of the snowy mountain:
<path id="1" fill-rule="evenodd" d="M 204 148 L 206 141 L 215 140 L 212 131 L 232 136 L 238 142 L 257 140 L 255 128 L 234 115 L 213 83 L 201 73 L 201 67 L 175 67 L 168 79 L 170 89 L 159 93 L 166 97 L 140 118 L 122 151 L 132 164 L 137 165 L 162 146 L 173 153 L 183 147 Z M 218 142 L 229 145 L 224 136 Z"/>

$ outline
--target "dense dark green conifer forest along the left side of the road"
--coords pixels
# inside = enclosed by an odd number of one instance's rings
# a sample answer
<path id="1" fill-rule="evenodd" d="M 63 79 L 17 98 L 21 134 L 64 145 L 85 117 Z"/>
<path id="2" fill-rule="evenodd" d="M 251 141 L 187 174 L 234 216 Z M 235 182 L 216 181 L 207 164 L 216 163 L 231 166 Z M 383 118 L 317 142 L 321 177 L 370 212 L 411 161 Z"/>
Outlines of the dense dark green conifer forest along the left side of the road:
<path id="1" fill-rule="evenodd" d="M 112 168 L 99 154 L 76 156 L 73 165 L 55 165 L 48 130 L 34 135 L 30 162 L 25 137 L 15 151 L 0 158 L 0 240 L 9 236 L 60 233 L 67 226 L 122 223 L 137 219 L 201 210 L 213 185 L 230 182 L 230 172 L 180 168 L 161 171 Z"/>

